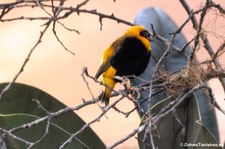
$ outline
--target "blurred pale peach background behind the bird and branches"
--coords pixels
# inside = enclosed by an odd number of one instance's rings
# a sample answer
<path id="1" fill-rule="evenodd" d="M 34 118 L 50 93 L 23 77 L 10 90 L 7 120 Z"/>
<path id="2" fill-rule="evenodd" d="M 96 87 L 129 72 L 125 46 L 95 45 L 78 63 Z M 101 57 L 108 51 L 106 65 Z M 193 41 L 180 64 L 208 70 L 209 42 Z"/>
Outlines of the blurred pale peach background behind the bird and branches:
<path id="1" fill-rule="evenodd" d="M 13 2 L 12 0 L 3 0 L 0 3 Z M 76 6 L 82 1 L 68 1 L 65 4 Z M 205 3 L 204 0 L 188 0 L 190 7 L 198 9 Z M 223 0 L 215 1 L 224 4 Z M 133 22 L 139 11 L 146 7 L 156 6 L 164 10 L 180 26 L 188 17 L 182 5 L 177 0 L 91 0 L 85 9 L 96 9 L 105 14 L 114 14 L 116 17 Z M 224 4 L 225 6 L 225 4 Z M 41 16 L 46 15 L 40 9 L 18 9 L 10 12 L 6 16 Z M 225 37 L 225 19 L 216 13 L 208 15 L 204 28 L 208 31 L 212 46 L 217 49 Z M 216 22 L 216 23 L 215 23 Z M 0 22 L 0 82 L 11 81 L 22 66 L 28 52 L 39 38 L 40 31 L 45 21 L 18 20 L 10 22 Z M 80 34 L 69 32 L 62 26 L 56 25 L 56 31 L 64 45 L 71 51 L 65 51 L 49 29 L 44 35 L 41 44 L 35 49 L 23 73 L 19 76 L 17 82 L 29 84 L 46 91 L 55 98 L 59 99 L 68 106 L 75 106 L 82 103 L 82 99 L 92 99 L 90 92 L 84 83 L 81 72 L 83 67 L 88 68 L 90 75 L 94 76 L 99 64 L 101 52 L 107 48 L 117 37 L 122 35 L 129 27 L 124 24 L 118 24 L 116 21 L 103 19 L 103 27 L 100 31 L 99 18 L 94 15 L 81 13 L 73 14 L 62 21 L 69 28 L 79 30 Z M 171 31 L 172 32 L 172 31 Z M 195 35 L 192 24 L 189 23 L 183 33 L 187 40 L 191 40 Z M 224 36 L 224 37 L 223 37 Z M 204 50 L 199 50 L 198 60 L 205 60 L 208 55 Z M 225 66 L 225 57 L 220 61 Z M 91 91 L 97 97 L 102 86 L 88 79 Z M 219 104 L 225 108 L 224 92 L 218 80 L 211 80 L 210 85 Z M 118 87 L 120 87 L 118 85 Z M 113 100 L 113 99 L 112 99 Z M 123 111 L 131 110 L 134 105 L 130 101 L 122 101 L 119 108 Z M 101 113 L 97 105 L 85 107 L 75 111 L 86 122 Z M 225 140 L 225 127 L 223 122 L 225 116 L 217 111 L 219 122 L 219 132 L 221 142 Z M 137 112 L 133 112 L 128 118 L 111 110 L 107 117 L 103 117 L 98 123 L 91 127 L 106 143 L 112 143 L 123 138 L 135 128 L 138 127 L 140 118 Z M 135 138 L 129 139 L 118 148 L 138 148 Z"/>

